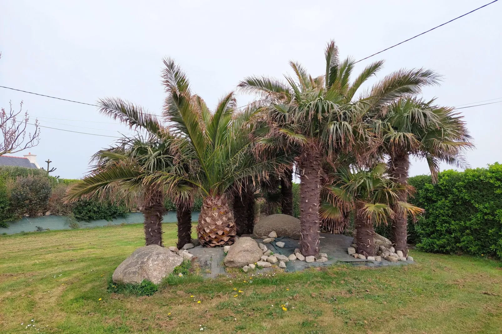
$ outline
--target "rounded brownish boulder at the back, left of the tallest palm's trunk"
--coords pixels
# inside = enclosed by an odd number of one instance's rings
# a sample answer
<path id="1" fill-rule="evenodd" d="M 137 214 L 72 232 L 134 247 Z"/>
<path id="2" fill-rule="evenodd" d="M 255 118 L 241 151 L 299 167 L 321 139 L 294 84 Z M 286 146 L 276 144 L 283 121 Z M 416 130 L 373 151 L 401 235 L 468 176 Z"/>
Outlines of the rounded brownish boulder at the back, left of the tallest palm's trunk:
<path id="1" fill-rule="evenodd" d="M 265 235 L 268 236 L 272 231 L 276 231 L 279 237 L 300 239 L 300 220 L 283 214 L 267 216 L 255 224 L 253 236 L 261 238 Z"/>

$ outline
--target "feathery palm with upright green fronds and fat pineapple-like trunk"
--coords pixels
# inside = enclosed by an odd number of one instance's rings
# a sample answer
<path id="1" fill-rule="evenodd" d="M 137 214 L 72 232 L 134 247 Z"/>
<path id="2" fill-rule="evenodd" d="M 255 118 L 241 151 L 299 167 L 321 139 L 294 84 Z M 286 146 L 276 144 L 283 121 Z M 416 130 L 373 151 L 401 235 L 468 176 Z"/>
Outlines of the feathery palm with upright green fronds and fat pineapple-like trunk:
<path id="1" fill-rule="evenodd" d="M 236 110 L 233 92 L 223 96 L 211 112 L 205 102 L 192 94 L 188 79 L 172 59 L 164 60 L 163 83 L 167 98 L 164 117 L 173 134 L 183 138 L 179 147 L 193 173 L 183 176 L 160 173 L 161 182 L 170 188 L 189 183 L 203 194 L 197 234 L 203 246 L 232 244 L 236 225 L 228 197 L 237 182 L 247 177 L 267 177 L 267 171 L 284 157 L 262 161 L 250 154 L 253 145 L 254 118 L 259 108 Z"/>

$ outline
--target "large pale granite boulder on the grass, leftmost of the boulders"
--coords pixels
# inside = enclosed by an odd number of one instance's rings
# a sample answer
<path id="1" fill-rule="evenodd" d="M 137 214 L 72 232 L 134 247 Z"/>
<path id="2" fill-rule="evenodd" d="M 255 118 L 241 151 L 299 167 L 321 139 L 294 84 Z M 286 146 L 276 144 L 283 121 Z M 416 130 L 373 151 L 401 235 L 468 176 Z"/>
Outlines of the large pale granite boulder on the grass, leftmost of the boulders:
<path id="1" fill-rule="evenodd" d="M 181 256 L 167 248 L 158 245 L 140 247 L 118 265 L 111 278 L 115 283 L 141 283 L 148 279 L 159 284 L 182 262 Z"/>

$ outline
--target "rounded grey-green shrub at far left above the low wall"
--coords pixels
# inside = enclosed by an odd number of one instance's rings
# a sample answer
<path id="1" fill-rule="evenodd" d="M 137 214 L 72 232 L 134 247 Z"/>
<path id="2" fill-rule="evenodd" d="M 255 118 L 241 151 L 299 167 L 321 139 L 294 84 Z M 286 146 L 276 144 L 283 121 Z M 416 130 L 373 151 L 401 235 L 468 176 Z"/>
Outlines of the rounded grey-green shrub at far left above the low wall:
<path id="1" fill-rule="evenodd" d="M 17 216 L 41 215 L 47 209 L 51 192 L 47 176 L 18 177 L 11 191 L 11 208 Z"/>

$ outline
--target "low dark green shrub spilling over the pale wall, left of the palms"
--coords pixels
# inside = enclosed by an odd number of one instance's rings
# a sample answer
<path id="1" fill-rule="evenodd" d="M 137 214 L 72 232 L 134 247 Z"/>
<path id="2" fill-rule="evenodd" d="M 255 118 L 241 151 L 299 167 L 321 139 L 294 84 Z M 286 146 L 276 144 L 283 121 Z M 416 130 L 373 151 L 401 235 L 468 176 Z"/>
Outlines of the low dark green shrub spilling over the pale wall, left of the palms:
<path id="1" fill-rule="evenodd" d="M 72 206 L 72 213 L 78 221 L 105 219 L 110 221 L 117 217 L 125 217 L 128 208 L 123 201 L 111 203 L 109 200 L 82 199 Z"/>

